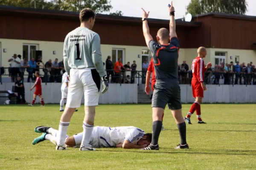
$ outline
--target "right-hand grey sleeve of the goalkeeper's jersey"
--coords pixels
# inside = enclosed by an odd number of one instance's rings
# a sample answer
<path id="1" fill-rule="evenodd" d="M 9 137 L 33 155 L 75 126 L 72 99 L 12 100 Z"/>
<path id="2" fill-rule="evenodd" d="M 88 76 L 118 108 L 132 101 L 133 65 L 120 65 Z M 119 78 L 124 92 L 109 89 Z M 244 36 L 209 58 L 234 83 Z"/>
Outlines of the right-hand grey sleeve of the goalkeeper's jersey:
<path id="1" fill-rule="evenodd" d="M 95 66 L 96 70 L 99 73 L 100 77 L 105 77 L 105 70 L 102 61 L 102 54 L 100 51 L 100 38 L 99 34 L 94 34 L 92 40 L 92 59 L 93 65 Z"/>

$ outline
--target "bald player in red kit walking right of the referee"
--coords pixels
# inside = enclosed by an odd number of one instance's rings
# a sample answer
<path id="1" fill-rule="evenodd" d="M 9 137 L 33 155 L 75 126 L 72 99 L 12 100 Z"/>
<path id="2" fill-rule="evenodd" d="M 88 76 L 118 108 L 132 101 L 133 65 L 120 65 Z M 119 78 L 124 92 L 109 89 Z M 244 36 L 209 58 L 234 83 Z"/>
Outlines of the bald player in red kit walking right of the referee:
<path id="1" fill-rule="evenodd" d="M 192 124 L 190 122 L 190 116 L 196 111 L 196 115 L 198 118 L 198 124 L 204 124 L 206 122 L 203 122 L 201 119 L 201 103 L 202 99 L 204 97 L 204 91 L 206 91 L 206 87 L 204 85 L 204 72 L 207 70 L 207 68 L 210 68 L 212 66 L 211 62 L 207 63 L 207 66 L 204 67 L 204 60 L 203 58 L 206 57 L 207 51 L 205 47 L 199 47 L 198 48 L 198 57 L 196 57 L 192 62 L 192 93 L 193 97 L 195 98 L 195 102 L 192 104 L 187 116 L 184 118 L 188 124 Z"/>

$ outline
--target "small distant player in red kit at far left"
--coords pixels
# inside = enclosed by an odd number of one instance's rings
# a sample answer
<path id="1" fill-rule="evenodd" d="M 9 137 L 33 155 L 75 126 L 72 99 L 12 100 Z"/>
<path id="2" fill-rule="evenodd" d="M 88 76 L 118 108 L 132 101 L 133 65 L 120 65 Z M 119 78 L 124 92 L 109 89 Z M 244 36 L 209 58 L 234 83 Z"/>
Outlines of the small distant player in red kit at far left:
<path id="1" fill-rule="evenodd" d="M 35 72 L 35 77 L 36 77 L 35 84 L 33 85 L 32 88 L 30 88 L 31 91 L 32 91 L 33 88 L 35 88 L 35 92 L 34 92 L 34 95 L 33 95 L 32 103 L 29 104 L 29 105 L 33 106 L 35 104 L 36 96 L 39 96 L 39 98 L 41 99 L 41 103 L 42 103 L 41 106 L 44 106 L 44 99 L 42 97 L 42 80 L 40 78 L 40 75 L 39 75 L 38 71 Z"/>

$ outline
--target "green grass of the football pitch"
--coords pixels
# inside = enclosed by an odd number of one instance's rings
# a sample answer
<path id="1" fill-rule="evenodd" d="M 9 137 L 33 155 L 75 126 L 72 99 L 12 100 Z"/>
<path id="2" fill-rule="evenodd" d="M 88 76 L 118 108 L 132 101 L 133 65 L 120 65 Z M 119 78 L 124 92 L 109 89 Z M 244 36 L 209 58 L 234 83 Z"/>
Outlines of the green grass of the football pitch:
<path id="1" fill-rule="evenodd" d="M 190 105 L 183 105 L 183 115 Z M 10 170 L 149 170 L 149 169 L 256 169 L 256 105 L 202 105 L 206 125 L 187 125 L 189 150 L 174 150 L 180 141 L 172 114 L 166 109 L 165 131 L 160 134 L 159 151 L 99 148 L 80 152 L 78 148 L 55 150 L 49 141 L 32 145 L 39 136 L 38 125 L 58 129 L 58 105 L 0 106 L 0 169 Z M 83 108 L 71 120 L 68 134 L 82 131 Z M 137 126 L 151 132 L 150 105 L 100 105 L 95 125 Z"/>

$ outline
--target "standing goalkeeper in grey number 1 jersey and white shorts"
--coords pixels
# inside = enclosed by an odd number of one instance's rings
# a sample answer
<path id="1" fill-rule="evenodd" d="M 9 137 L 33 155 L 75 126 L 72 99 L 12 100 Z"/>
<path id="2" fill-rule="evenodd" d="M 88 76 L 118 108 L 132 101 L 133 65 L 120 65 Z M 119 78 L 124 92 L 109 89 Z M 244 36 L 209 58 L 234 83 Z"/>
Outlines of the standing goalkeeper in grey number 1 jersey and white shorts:
<path id="1" fill-rule="evenodd" d="M 84 95 L 84 121 L 81 151 L 95 150 L 89 145 L 94 126 L 95 108 L 99 104 L 99 90 L 102 94 L 108 90 L 108 80 L 102 62 L 99 34 L 92 31 L 95 13 L 84 8 L 79 14 L 80 27 L 67 34 L 64 41 L 64 67 L 70 77 L 67 103 L 61 116 L 56 149 L 64 150 L 67 128 L 70 119 L 81 106 Z"/>

